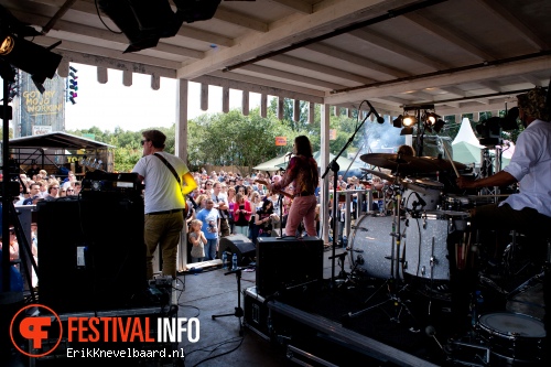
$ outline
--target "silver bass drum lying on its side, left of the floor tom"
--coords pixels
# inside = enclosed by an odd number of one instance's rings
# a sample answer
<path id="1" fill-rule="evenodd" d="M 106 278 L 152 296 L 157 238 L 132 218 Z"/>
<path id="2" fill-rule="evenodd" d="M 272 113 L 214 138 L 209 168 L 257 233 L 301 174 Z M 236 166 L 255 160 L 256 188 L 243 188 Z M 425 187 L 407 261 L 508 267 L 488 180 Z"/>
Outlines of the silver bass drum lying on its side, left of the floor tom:
<path id="1" fill-rule="evenodd" d="M 390 278 L 393 216 L 364 215 L 349 238 L 350 263 L 374 278 Z"/>

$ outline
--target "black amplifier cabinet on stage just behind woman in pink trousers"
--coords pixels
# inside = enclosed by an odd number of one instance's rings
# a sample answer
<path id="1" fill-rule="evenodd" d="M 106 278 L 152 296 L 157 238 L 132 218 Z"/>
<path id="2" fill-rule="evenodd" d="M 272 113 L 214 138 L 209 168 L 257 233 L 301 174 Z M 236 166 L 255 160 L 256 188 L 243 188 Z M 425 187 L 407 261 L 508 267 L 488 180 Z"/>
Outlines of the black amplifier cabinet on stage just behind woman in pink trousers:
<path id="1" fill-rule="evenodd" d="M 257 291 L 262 296 L 323 280 L 323 240 L 317 237 L 259 237 Z"/>

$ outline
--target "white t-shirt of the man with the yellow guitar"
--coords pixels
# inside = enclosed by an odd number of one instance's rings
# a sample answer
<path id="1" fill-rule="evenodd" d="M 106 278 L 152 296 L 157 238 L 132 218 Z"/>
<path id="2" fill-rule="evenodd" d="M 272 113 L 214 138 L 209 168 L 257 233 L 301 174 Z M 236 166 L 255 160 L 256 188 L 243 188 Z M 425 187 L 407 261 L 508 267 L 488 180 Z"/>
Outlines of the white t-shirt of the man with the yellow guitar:
<path id="1" fill-rule="evenodd" d="M 158 152 L 174 168 L 180 180 L 190 172 L 184 161 L 166 152 Z M 132 172 L 143 176 L 145 185 L 144 205 L 145 214 L 154 212 L 164 212 L 172 209 L 183 209 L 185 199 L 182 195 L 181 186 L 171 170 L 164 165 L 163 161 L 153 154 L 142 156 L 136 163 Z"/>

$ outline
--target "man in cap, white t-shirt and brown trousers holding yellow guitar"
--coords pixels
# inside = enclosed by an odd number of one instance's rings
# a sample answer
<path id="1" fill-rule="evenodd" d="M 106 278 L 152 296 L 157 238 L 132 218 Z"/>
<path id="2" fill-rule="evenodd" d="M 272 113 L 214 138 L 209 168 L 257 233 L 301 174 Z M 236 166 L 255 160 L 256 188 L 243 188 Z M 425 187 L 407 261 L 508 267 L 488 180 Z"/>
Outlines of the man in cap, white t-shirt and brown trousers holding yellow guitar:
<path id="1" fill-rule="evenodd" d="M 136 163 L 132 172 L 138 173 L 139 180 L 145 184 L 143 197 L 147 274 L 148 279 L 153 279 L 153 253 L 159 245 L 163 259 L 162 273 L 175 279 L 177 245 L 184 227 L 184 195 L 195 190 L 197 183 L 184 161 L 164 151 L 166 136 L 163 132 L 145 130 L 142 136 L 143 156 Z"/>

